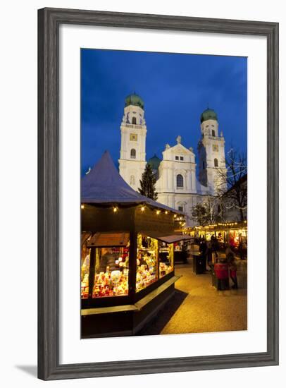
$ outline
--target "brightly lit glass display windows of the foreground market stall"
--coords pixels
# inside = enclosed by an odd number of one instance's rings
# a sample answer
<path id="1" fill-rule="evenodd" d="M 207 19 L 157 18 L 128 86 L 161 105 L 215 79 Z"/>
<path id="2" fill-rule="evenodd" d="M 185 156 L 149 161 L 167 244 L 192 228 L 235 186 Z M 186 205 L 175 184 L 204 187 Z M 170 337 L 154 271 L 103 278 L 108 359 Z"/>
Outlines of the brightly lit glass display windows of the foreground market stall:
<path id="1" fill-rule="evenodd" d="M 85 238 L 81 257 L 84 308 L 134 303 L 172 276 L 174 243 L 147 233 L 134 234 L 133 250 L 129 233 L 98 232 Z M 134 259 L 130 262 L 131 251 Z"/>

